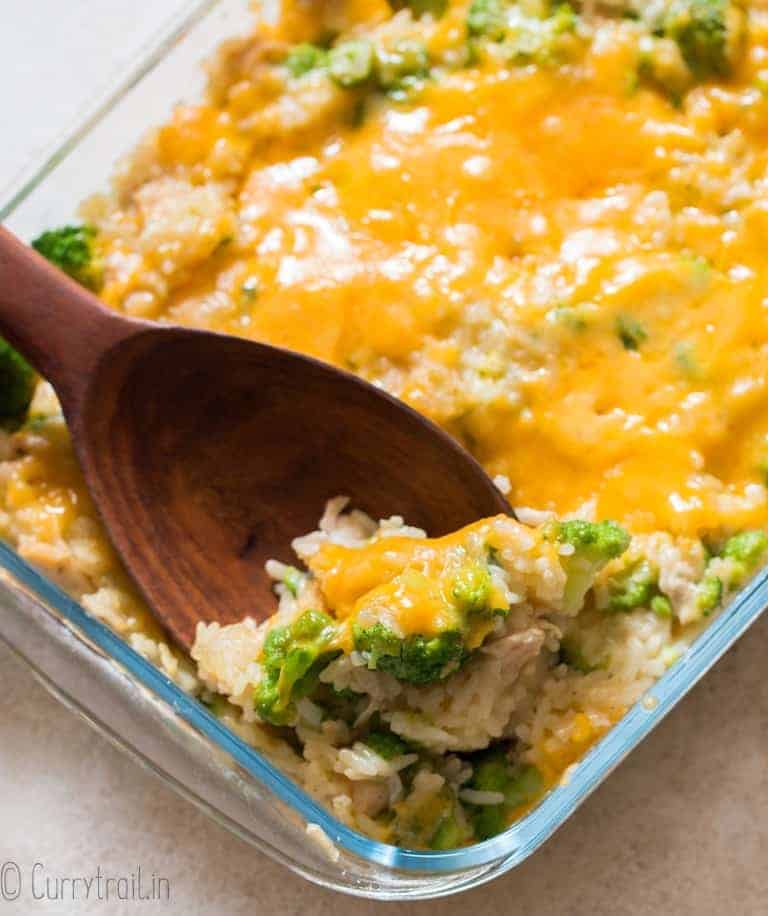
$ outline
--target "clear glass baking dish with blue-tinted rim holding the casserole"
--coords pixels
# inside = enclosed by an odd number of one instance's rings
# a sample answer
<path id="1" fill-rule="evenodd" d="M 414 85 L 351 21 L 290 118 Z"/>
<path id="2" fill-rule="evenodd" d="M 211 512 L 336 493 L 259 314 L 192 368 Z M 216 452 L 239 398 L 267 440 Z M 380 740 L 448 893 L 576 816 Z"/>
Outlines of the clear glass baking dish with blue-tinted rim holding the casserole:
<path id="1" fill-rule="evenodd" d="M 247 0 L 198 0 L 167 23 L 130 73 L 0 196 L 29 239 L 70 220 L 115 161 L 203 85 L 200 63 L 248 28 Z M 318 884 L 378 899 L 438 897 L 503 874 L 535 852 L 768 604 L 763 570 L 649 693 L 526 817 L 446 852 L 415 852 L 344 826 L 118 636 L 0 545 L 0 638 L 67 706 L 256 849 Z M 314 829 L 307 831 L 309 825 Z"/>

